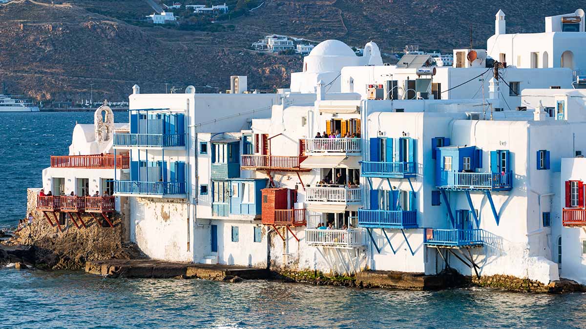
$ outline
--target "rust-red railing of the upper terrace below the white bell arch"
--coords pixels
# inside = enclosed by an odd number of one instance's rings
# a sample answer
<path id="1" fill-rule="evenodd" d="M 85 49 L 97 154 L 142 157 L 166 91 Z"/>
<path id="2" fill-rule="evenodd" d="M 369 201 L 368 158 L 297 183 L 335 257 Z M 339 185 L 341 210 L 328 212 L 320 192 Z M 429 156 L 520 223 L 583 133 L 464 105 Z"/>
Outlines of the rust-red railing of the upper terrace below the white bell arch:
<path id="1" fill-rule="evenodd" d="M 118 169 L 130 167 L 130 157 L 111 154 L 51 156 L 53 168 Z"/>

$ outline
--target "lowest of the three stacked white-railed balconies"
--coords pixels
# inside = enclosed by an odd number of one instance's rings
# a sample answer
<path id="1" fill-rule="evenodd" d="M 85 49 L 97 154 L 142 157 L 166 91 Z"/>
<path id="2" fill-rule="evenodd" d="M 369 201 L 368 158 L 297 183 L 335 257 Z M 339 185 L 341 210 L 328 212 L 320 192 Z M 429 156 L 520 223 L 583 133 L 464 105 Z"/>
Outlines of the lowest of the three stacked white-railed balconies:
<path id="1" fill-rule="evenodd" d="M 311 246 L 351 249 L 364 246 L 361 229 L 306 229 L 305 242 Z"/>

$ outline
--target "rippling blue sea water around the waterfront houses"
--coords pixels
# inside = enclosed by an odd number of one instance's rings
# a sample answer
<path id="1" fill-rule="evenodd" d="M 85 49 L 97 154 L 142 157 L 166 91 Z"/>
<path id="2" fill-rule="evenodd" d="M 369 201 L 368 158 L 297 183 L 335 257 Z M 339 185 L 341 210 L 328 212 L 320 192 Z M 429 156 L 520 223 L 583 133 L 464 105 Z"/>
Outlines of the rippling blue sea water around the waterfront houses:
<path id="1" fill-rule="evenodd" d="M 125 113 L 114 114 L 127 121 Z M 0 115 L 0 227 L 92 112 Z M 0 328 L 586 328 L 586 294 L 408 292 L 299 283 L 104 279 L 0 268 Z"/>

